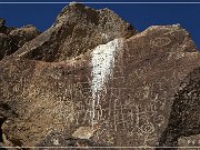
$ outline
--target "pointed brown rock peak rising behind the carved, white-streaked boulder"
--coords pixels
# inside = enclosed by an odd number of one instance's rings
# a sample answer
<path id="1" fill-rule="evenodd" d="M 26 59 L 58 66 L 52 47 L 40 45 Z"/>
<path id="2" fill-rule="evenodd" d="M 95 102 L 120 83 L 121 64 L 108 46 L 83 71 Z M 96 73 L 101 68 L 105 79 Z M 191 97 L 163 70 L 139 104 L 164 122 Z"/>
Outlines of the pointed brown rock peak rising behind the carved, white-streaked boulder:
<path id="1" fill-rule="evenodd" d="M 99 44 L 117 38 L 129 38 L 136 33 L 138 31 L 130 23 L 111 10 L 94 10 L 72 3 L 61 11 L 50 29 L 16 54 L 47 62 L 66 61 Z"/>

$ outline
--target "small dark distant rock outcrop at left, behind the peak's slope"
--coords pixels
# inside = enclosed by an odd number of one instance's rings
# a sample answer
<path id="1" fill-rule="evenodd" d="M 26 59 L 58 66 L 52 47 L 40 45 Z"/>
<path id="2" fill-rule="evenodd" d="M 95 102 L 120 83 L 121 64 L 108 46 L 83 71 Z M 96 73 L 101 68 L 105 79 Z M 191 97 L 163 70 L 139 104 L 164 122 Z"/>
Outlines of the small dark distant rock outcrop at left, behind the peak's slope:
<path id="1" fill-rule="evenodd" d="M 0 19 L 0 60 L 10 56 L 26 42 L 32 40 L 40 32 L 33 26 L 22 28 L 6 27 L 6 20 Z"/>

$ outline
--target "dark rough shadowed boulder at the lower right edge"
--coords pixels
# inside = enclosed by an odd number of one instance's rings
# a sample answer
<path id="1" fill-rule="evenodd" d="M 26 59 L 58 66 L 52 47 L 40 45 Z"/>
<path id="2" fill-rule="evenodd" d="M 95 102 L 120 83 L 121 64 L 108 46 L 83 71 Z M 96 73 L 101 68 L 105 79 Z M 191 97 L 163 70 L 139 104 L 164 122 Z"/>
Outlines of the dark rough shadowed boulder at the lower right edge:
<path id="1" fill-rule="evenodd" d="M 174 96 L 168 128 L 162 133 L 161 146 L 200 146 L 200 69 L 194 69 L 181 82 Z"/>

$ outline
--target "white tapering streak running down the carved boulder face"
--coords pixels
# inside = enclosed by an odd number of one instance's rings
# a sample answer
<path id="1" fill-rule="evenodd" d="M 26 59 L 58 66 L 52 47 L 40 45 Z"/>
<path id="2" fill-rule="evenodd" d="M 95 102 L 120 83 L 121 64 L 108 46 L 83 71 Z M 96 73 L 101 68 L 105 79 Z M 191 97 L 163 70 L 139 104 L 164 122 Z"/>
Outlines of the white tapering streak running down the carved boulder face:
<path id="1" fill-rule="evenodd" d="M 103 94 L 103 88 L 112 77 L 114 68 L 114 58 L 119 47 L 121 46 L 120 39 L 116 39 L 107 44 L 98 46 L 91 53 L 92 63 L 92 126 L 98 121 L 96 114 L 96 107 L 99 106 L 100 96 Z"/>

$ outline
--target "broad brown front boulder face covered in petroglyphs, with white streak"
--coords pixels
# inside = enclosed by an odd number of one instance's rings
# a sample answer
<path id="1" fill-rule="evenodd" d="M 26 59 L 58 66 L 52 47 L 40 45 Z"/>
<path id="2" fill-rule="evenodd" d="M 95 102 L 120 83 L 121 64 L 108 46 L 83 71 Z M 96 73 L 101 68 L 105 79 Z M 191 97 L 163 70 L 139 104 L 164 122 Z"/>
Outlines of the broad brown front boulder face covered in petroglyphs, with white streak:
<path id="1" fill-rule="evenodd" d="M 186 88 L 180 83 L 199 60 L 198 52 L 184 52 L 189 46 L 186 36 L 176 36 L 177 31 L 168 28 L 153 27 L 116 39 L 62 62 L 27 60 L 26 64 L 33 66 L 31 71 L 13 62 L 4 69 L 4 77 L 13 80 L 1 77 L 0 92 L 19 117 L 12 118 L 18 123 L 3 130 L 12 131 L 13 137 L 26 133 L 21 138 L 24 143 L 59 132 L 63 139 L 87 137 L 98 144 L 159 146 L 174 96 Z M 109 34 L 102 37 L 108 40 Z M 27 74 L 19 78 L 19 72 Z M 186 98 L 190 101 L 190 96 L 193 101 L 199 99 L 189 93 Z M 28 128 L 21 123 L 24 120 Z M 37 137 L 30 129 L 42 133 Z M 61 143 L 58 137 L 52 141 Z"/>

